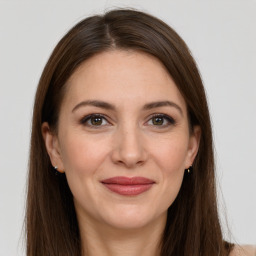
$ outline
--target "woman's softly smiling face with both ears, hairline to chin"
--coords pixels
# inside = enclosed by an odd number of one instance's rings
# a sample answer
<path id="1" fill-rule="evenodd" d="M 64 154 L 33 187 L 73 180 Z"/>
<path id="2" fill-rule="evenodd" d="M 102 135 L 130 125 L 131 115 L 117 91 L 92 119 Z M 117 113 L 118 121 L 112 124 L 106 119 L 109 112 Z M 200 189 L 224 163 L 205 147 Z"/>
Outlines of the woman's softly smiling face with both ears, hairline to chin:
<path id="1" fill-rule="evenodd" d="M 127 229 L 165 220 L 197 153 L 200 129 L 189 133 L 185 101 L 155 57 L 115 50 L 76 70 L 58 134 L 46 123 L 43 134 L 53 166 L 66 173 L 78 219 Z M 120 176 L 150 184 L 107 181 Z"/>

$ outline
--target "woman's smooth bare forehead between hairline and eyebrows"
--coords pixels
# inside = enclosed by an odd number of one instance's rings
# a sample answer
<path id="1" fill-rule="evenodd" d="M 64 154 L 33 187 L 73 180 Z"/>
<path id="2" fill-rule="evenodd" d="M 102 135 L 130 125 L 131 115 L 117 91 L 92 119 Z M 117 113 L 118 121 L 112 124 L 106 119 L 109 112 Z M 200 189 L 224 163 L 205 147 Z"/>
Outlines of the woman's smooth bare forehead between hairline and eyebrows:
<path id="1" fill-rule="evenodd" d="M 67 82 L 66 102 L 104 100 L 120 105 L 145 101 L 185 101 L 164 65 L 142 52 L 112 50 L 80 65 Z"/>

